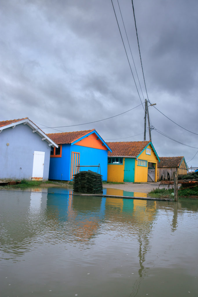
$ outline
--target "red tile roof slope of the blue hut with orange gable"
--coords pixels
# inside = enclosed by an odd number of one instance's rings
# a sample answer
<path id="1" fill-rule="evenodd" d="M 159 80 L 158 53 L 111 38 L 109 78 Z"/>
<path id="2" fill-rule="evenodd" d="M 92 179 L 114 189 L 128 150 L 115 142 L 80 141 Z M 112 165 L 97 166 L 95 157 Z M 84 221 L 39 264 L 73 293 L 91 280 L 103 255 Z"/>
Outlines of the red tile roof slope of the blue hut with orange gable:
<path id="1" fill-rule="evenodd" d="M 84 131 L 74 131 L 74 132 L 63 132 L 63 133 L 49 133 L 47 134 L 54 142 L 57 144 L 66 144 L 72 143 L 75 140 L 87 135 L 88 133 L 94 131 L 92 130 L 84 130 Z"/>

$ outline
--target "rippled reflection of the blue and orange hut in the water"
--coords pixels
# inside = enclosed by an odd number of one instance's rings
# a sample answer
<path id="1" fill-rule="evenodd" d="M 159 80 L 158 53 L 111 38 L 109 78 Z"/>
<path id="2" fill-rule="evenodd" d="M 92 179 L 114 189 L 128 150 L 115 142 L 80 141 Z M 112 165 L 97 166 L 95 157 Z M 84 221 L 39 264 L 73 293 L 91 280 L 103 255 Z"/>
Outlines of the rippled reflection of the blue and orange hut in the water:
<path id="1" fill-rule="evenodd" d="M 71 189 L 51 188 L 47 194 L 47 216 L 56 222 L 67 222 L 73 241 L 87 241 L 95 236 L 104 219 L 104 200 L 72 195 Z"/>

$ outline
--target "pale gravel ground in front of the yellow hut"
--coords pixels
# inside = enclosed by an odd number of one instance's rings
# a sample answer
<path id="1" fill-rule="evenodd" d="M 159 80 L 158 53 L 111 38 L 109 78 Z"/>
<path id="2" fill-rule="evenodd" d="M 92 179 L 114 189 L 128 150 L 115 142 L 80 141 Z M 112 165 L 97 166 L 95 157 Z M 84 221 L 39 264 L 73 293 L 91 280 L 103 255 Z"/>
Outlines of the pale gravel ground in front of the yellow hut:
<path id="1" fill-rule="evenodd" d="M 140 192 L 140 193 L 149 193 L 153 189 L 156 189 L 159 187 L 159 182 L 156 183 L 140 183 L 140 184 L 134 184 L 134 183 L 127 183 L 124 184 L 103 184 L 103 188 L 111 188 L 111 189 L 120 189 L 124 191 L 129 192 Z M 159 189 L 167 188 L 167 185 L 161 185 Z"/>

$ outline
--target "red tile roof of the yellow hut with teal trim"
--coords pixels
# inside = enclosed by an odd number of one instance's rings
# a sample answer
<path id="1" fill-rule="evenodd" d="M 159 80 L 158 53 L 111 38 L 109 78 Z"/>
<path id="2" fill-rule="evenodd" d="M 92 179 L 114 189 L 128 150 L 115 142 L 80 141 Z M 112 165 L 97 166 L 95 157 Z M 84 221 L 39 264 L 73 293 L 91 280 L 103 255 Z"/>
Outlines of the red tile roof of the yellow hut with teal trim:
<path id="1" fill-rule="evenodd" d="M 108 152 L 109 157 L 137 157 L 150 141 L 127 141 L 127 142 L 107 142 L 112 149 Z"/>

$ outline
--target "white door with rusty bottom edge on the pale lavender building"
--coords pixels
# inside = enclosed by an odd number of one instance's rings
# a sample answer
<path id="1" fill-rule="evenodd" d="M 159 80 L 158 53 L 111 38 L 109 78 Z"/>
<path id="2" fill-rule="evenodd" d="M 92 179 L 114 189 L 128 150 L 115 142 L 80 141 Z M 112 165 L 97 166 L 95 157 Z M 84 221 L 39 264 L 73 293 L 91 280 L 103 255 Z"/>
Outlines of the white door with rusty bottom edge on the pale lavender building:
<path id="1" fill-rule="evenodd" d="M 44 169 L 44 159 L 45 159 L 44 151 L 34 151 L 32 180 L 42 181 L 43 169 Z"/>

